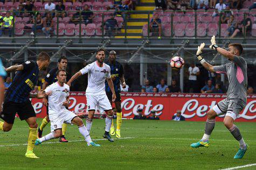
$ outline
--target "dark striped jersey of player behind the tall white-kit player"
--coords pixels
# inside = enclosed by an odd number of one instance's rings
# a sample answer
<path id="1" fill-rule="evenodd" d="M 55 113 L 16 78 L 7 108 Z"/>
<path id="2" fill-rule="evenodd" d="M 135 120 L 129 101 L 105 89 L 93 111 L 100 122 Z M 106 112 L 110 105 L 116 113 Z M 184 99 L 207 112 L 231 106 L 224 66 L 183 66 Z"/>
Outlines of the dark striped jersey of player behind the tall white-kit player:
<path id="1" fill-rule="evenodd" d="M 110 77 L 112 78 L 115 91 L 120 92 L 120 77 L 123 75 L 123 66 L 117 61 L 115 63 L 110 63 L 109 61 L 105 63 L 110 66 Z M 107 81 L 105 81 L 105 90 L 107 92 L 111 91 Z"/>

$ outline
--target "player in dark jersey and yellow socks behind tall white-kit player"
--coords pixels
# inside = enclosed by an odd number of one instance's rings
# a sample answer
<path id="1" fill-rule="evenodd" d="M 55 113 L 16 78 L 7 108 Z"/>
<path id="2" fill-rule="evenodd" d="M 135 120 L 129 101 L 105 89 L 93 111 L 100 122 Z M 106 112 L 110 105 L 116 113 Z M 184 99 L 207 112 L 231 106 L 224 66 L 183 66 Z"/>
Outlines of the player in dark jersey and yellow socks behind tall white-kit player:
<path id="1" fill-rule="evenodd" d="M 110 51 L 109 52 L 109 59 L 106 62 L 107 65 L 110 66 L 110 77 L 114 84 L 114 90 L 116 94 L 116 100 L 115 100 L 115 107 L 116 107 L 116 132 L 114 128 L 114 121 L 112 120 L 111 128 L 110 128 L 110 134 L 115 135 L 116 138 L 120 138 L 120 128 L 122 124 L 122 109 L 121 109 L 121 94 L 120 94 L 120 81 L 122 83 L 122 88 L 126 88 L 126 82 L 124 81 L 123 76 L 123 66 L 120 62 L 116 61 L 116 52 Z M 110 104 L 112 105 L 112 92 L 110 87 L 108 86 L 108 83 L 105 82 L 105 90 L 106 94 L 108 96 L 108 100 Z"/>

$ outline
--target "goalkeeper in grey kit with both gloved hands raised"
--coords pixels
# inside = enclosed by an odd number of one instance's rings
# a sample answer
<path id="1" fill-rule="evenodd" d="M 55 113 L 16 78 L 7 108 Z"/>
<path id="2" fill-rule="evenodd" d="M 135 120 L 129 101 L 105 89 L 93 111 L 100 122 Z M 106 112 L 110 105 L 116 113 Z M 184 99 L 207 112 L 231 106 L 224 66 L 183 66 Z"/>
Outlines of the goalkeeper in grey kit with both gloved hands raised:
<path id="1" fill-rule="evenodd" d="M 241 44 L 234 43 L 230 44 L 229 49 L 226 51 L 226 49 L 220 48 L 216 45 L 215 36 L 212 36 L 210 48 L 215 49 L 219 54 L 222 54 L 225 58 L 231 61 L 223 66 L 212 66 L 207 63 L 202 56 L 203 48 L 204 43 L 198 46 L 198 60 L 203 67 L 210 72 L 227 74 L 227 78 L 229 79 L 229 89 L 227 90 L 227 98 L 220 101 L 207 112 L 204 136 L 197 143 L 191 144 L 191 147 L 208 147 L 210 135 L 215 128 L 215 118 L 219 115 L 225 115 L 224 125 L 230 130 L 233 137 L 239 141 L 240 145 L 240 148 L 237 154 L 234 155 L 234 158 L 241 159 L 247 151 L 247 144 L 245 144 L 237 126 L 234 125 L 234 121 L 239 115 L 239 112 L 245 108 L 247 100 L 247 63 L 245 59 L 240 56 L 243 52 L 243 47 Z"/>

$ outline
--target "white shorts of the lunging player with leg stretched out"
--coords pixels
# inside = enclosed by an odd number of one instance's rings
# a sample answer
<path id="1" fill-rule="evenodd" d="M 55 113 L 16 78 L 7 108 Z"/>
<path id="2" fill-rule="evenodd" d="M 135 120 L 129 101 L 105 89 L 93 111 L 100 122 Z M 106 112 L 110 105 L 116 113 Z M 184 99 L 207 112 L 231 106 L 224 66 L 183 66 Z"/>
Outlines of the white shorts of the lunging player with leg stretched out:
<path id="1" fill-rule="evenodd" d="M 51 122 L 51 131 L 62 129 L 63 123 L 72 124 L 71 122 L 75 117 L 78 117 L 78 116 L 69 110 L 65 110 L 64 112 L 61 112 L 61 114 L 60 113 L 49 114 L 49 119 Z"/>

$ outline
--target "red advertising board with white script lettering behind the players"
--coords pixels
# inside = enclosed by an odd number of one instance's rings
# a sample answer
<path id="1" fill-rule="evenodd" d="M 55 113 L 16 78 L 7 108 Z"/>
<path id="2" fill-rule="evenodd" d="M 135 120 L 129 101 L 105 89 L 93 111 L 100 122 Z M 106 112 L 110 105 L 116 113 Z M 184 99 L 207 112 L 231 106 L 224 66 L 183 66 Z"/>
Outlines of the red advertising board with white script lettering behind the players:
<path id="1" fill-rule="evenodd" d="M 176 110 L 182 110 L 187 121 L 205 121 L 206 113 L 217 102 L 223 100 L 223 94 L 175 94 L 175 93 L 122 93 L 123 117 L 133 118 L 137 108 L 143 108 L 144 115 L 150 115 L 150 110 L 156 111 L 161 120 L 171 120 Z M 45 117 L 46 108 L 42 100 L 32 99 L 34 110 L 38 117 Z M 86 112 L 86 97 L 84 92 L 70 93 L 70 110 L 79 113 Z M 256 122 L 256 95 L 247 96 L 247 105 L 241 111 L 236 121 Z M 217 121 L 222 121 L 218 117 Z"/>

